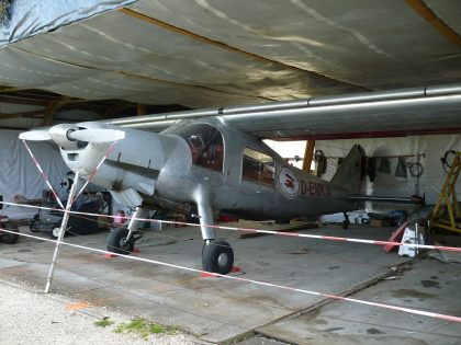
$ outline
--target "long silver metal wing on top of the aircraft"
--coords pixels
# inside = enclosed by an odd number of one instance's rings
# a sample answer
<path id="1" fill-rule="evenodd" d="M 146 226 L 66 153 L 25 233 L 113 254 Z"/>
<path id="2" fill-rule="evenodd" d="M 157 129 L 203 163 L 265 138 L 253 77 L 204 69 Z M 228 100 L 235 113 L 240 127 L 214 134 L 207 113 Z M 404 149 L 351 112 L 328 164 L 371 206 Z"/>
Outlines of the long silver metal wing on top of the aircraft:
<path id="1" fill-rule="evenodd" d="M 145 115 L 110 123 L 159 131 L 180 119 L 210 116 L 276 140 L 461 133 L 461 84 Z"/>

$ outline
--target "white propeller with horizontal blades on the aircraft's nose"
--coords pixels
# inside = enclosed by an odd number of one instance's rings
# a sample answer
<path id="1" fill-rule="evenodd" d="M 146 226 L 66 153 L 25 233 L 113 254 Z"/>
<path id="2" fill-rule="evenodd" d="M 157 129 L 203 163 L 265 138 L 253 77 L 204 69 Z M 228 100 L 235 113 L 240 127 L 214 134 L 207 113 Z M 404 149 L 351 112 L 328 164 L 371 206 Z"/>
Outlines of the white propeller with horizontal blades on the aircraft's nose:
<path id="1" fill-rule="evenodd" d="M 49 129 L 35 129 L 21 133 L 19 138 L 32 141 L 53 140 L 64 149 L 76 150 L 81 148 L 79 141 L 111 142 L 125 138 L 125 133 L 117 129 L 79 128 L 70 124 L 60 124 Z"/>

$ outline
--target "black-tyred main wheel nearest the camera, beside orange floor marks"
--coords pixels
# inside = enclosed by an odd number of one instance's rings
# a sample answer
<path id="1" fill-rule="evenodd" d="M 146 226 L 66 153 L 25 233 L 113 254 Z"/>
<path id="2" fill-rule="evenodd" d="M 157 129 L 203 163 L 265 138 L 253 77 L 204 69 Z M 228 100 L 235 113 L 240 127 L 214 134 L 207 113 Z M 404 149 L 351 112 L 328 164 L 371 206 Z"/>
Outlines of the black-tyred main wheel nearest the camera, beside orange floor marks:
<path id="1" fill-rule="evenodd" d="M 203 244 L 202 265 L 206 272 L 228 274 L 234 265 L 234 251 L 226 241 Z"/>

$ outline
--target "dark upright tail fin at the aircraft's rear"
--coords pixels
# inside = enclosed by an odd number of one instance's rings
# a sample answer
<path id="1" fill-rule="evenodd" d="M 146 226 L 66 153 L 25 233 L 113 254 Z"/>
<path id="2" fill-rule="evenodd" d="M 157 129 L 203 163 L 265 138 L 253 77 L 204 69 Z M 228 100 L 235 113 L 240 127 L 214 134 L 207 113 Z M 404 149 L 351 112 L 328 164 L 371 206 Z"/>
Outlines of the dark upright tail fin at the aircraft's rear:
<path id="1" fill-rule="evenodd" d="M 367 173 L 367 156 L 360 145 L 355 145 L 339 164 L 330 183 L 348 193 L 360 194 L 363 176 Z"/>

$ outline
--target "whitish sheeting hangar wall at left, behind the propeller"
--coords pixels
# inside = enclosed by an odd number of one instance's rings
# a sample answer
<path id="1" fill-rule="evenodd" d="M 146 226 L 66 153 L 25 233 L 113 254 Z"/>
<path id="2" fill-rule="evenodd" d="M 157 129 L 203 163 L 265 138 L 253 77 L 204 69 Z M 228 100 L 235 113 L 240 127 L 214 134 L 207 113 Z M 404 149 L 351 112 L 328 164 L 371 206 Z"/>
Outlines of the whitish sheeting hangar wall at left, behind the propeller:
<path id="1" fill-rule="evenodd" d="M 0 130 L 0 195 L 3 195 L 4 202 L 13 202 L 16 194 L 26 198 L 41 198 L 42 191 L 48 188 L 24 145 L 18 139 L 20 133 Z M 27 142 L 27 145 L 59 194 L 59 182 L 69 171 L 59 151 L 48 142 Z M 11 218 L 29 218 L 37 210 L 11 206 L 3 212 Z"/>

